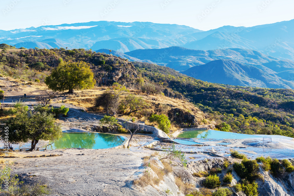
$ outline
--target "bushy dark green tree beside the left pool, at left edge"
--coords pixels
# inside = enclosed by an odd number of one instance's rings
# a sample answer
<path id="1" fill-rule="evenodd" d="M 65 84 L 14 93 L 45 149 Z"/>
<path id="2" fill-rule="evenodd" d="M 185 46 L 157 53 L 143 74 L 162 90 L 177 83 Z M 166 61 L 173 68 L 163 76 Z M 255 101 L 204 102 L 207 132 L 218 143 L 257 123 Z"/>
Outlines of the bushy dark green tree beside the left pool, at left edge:
<path id="1" fill-rule="evenodd" d="M 32 113 L 28 111 L 27 106 L 21 103 L 18 104 L 16 109 L 16 117 L 6 122 L 9 132 L 0 131 L 2 140 L 7 139 L 9 143 L 31 140 L 31 149 L 28 151 L 33 151 L 39 140 L 57 140 L 61 138 L 62 131 L 59 125 L 54 124 L 55 118 L 53 114 L 46 112 Z M 8 138 L 5 136 L 8 136 Z"/>

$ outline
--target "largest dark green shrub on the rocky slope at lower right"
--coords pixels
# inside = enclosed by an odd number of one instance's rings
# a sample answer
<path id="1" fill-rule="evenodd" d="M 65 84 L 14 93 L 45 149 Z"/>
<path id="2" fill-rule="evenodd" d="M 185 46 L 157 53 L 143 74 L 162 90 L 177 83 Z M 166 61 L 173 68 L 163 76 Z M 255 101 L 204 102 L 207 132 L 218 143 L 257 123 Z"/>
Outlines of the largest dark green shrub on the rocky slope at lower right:
<path id="1" fill-rule="evenodd" d="M 259 165 L 256 160 L 243 160 L 241 163 L 234 163 L 233 168 L 235 172 L 243 179 L 253 182 L 258 178 Z"/>

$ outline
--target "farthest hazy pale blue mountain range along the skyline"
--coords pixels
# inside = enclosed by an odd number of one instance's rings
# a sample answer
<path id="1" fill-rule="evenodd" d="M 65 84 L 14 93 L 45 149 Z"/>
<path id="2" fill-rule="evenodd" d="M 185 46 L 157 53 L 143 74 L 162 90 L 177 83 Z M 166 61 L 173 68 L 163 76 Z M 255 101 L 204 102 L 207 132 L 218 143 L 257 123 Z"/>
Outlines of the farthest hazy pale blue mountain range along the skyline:
<path id="1" fill-rule="evenodd" d="M 151 22 L 87 22 L 0 30 L 0 43 L 25 48 L 109 48 L 119 52 L 183 46 L 196 50 L 243 48 L 294 60 L 294 20 L 254 27 L 201 31 Z"/>

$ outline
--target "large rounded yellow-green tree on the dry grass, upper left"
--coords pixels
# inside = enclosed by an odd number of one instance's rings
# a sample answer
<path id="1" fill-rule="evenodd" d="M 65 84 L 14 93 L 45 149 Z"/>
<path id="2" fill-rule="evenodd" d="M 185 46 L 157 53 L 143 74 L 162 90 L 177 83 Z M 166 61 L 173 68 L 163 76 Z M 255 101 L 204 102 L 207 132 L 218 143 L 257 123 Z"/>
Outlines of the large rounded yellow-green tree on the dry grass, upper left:
<path id="1" fill-rule="evenodd" d="M 76 63 L 62 62 L 46 77 L 45 83 L 53 91 L 65 91 L 74 93 L 74 89 L 89 89 L 95 84 L 94 74 L 88 63 L 79 61 Z"/>

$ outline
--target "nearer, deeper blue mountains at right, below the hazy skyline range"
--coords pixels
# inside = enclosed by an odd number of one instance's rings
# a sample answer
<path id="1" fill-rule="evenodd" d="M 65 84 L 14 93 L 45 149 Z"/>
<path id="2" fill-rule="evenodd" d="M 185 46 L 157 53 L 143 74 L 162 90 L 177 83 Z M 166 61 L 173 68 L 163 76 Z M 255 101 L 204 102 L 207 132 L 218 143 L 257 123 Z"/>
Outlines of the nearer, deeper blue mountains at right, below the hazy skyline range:
<path id="1" fill-rule="evenodd" d="M 109 53 L 109 50 L 97 52 Z M 187 76 L 212 83 L 294 89 L 294 61 L 280 60 L 248 49 L 202 51 L 173 46 L 126 53 L 111 51 L 111 54 L 130 61 L 168 66 Z"/>

